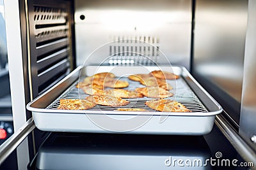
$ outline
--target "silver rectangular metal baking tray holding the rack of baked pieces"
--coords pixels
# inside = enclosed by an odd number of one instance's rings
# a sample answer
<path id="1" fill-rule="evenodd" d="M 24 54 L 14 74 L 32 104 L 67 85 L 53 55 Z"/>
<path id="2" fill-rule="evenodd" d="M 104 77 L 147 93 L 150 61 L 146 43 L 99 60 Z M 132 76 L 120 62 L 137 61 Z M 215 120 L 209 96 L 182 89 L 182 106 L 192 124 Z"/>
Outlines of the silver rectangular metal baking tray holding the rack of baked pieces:
<path id="1" fill-rule="evenodd" d="M 170 99 L 179 101 L 192 112 L 160 112 L 147 106 L 145 102 L 152 98 L 127 99 L 127 106 L 118 108 L 144 108 L 147 111 L 115 111 L 110 106 L 97 105 L 90 110 L 57 110 L 60 99 L 84 99 L 87 95 L 75 86 L 78 81 L 95 73 L 111 72 L 128 80 L 130 74 L 146 73 L 159 69 L 148 66 L 79 66 L 58 84 L 38 96 L 27 105 L 32 111 L 35 125 L 42 131 L 57 132 L 115 132 L 133 134 L 181 134 L 202 135 L 211 132 L 215 115 L 222 108 L 191 76 L 185 67 L 161 66 L 162 70 L 180 76 L 177 80 L 168 80 L 175 94 Z M 144 87 L 136 81 L 129 81 L 128 89 Z"/>

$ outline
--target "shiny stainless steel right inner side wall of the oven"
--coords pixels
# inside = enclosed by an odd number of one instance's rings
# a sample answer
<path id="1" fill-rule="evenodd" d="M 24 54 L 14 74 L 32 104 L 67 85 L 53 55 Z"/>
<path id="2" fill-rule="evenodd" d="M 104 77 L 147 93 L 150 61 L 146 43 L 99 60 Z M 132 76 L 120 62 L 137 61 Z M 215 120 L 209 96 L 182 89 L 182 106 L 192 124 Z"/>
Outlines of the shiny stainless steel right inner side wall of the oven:
<path id="1" fill-rule="evenodd" d="M 193 74 L 218 88 L 212 96 L 239 124 L 248 1 L 198 0 L 195 9 Z"/>

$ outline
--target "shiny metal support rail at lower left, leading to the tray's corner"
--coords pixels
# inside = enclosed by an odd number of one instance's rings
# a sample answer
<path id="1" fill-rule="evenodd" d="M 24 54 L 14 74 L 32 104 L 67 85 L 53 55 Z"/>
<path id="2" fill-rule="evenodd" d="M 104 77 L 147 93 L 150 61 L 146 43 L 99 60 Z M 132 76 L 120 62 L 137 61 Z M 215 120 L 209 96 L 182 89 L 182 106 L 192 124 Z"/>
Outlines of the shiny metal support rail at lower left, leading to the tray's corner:
<path id="1" fill-rule="evenodd" d="M 4 162 L 8 155 L 20 145 L 33 129 L 35 129 L 35 123 L 33 118 L 30 118 L 26 124 L 22 125 L 18 131 L 0 146 L 0 164 Z"/>

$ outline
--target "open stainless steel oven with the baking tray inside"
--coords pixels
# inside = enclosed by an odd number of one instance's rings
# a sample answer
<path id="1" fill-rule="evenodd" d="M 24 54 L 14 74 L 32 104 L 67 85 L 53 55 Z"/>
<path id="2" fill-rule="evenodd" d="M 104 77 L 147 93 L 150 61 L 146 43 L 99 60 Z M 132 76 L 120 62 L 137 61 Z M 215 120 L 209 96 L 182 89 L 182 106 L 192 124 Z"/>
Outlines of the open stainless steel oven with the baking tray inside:
<path id="1" fill-rule="evenodd" d="M 0 146 L 1 167 L 255 169 L 255 6 L 4 1 L 15 133 Z M 143 85 L 128 77 L 154 70 L 180 77 L 167 80 L 168 99 L 191 112 L 153 110 L 148 97 L 117 107 L 147 111 L 58 110 L 60 99 L 88 97 L 76 85 L 95 73 L 135 90 Z"/>

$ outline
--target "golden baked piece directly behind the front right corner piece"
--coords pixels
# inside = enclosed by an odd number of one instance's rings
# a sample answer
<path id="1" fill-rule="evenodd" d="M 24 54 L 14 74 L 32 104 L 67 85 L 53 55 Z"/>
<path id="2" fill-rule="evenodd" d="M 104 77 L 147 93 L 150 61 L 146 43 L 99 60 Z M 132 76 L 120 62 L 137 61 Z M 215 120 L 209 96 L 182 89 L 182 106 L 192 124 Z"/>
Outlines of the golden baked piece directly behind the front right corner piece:
<path id="1" fill-rule="evenodd" d="M 143 96 L 152 98 L 166 98 L 173 96 L 171 92 L 161 87 L 141 87 L 137 88 L 136 91 L 143 94 Z"/>

